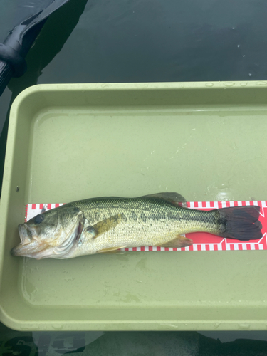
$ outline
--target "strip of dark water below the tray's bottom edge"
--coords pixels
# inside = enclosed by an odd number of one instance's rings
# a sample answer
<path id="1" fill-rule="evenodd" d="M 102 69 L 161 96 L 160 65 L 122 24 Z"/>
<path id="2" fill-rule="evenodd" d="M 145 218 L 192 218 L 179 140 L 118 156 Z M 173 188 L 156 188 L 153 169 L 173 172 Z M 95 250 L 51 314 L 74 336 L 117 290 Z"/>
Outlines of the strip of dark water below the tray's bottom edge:
<path id="1" fill-rule="evenodd" d="M 266 356 L 267 350 L 266 332 L 252 332 L 251 340 L 242 340 L 246 332 L 20 333 L 2 324 L 0 332 L 1 355 Z"/>

